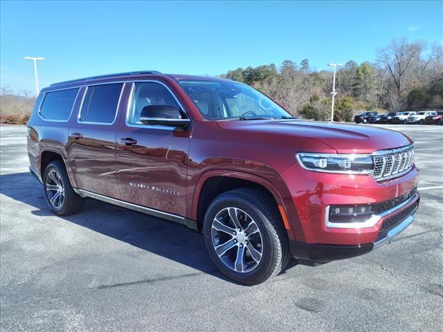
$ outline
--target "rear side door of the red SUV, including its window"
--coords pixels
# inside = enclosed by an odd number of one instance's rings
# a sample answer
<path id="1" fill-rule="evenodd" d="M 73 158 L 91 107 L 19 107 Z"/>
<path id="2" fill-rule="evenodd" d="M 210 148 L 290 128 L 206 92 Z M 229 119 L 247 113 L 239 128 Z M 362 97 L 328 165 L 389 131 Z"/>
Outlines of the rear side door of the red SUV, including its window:
<path id="1" fill-rule="evenodd" d="M 116 132 L 123 83 L 87 86 L 78 118 L 69 129 L 67 151 L 79 189 L 120 198 Z"/>

